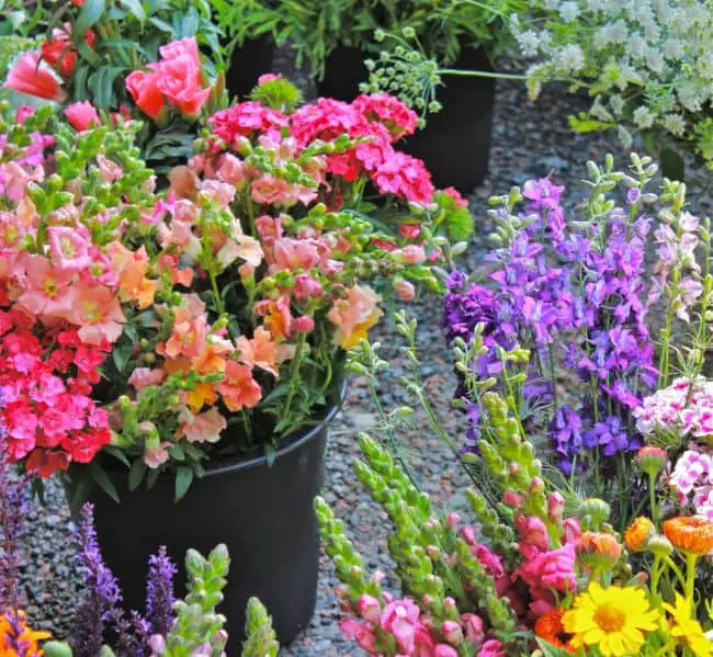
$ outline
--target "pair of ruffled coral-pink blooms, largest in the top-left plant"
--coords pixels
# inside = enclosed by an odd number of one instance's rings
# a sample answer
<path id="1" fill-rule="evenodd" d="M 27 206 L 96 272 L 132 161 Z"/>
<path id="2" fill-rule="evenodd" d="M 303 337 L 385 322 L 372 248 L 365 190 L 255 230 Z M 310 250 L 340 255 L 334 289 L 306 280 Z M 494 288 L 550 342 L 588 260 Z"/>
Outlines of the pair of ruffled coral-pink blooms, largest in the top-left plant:
<path id="1" fill-rule="evenodd" d="M 182 38 L 159 48 L 161 59 L 148 70 L 135 70 L 126 78 L 134 102 L 151 118 L 159 117 L 165 100 L 186 116 L 196 116 L 211 95 L 205 87 L 195 37 Z"/>

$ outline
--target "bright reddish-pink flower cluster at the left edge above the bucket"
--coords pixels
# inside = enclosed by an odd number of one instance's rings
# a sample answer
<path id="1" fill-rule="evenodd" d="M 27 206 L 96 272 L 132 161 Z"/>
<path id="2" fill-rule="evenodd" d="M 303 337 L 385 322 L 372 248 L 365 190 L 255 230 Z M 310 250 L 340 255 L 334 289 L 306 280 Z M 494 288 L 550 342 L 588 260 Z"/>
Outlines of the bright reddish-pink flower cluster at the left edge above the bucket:
<path id="1" fill-rule="evenodd" d="M 90 397 L 106 350 L 65 322 L 48 330 L 20 306 L 0 309 L 0 418 L 11 463 L 26 458 L 29 471 L 48 477 L 109 443 L 106 412 Z"/>

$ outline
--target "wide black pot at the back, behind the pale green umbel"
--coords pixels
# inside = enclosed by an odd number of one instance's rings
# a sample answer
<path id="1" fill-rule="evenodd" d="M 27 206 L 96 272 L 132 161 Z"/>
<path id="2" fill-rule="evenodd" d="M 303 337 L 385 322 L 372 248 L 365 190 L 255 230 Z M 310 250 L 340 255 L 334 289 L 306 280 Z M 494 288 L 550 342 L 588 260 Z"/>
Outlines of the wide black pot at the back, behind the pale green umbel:
<path id="1" fill-rule="evenodd" d="M 328 58 L 325 79 L 317 83 L 319 95 L 351 101 L 359 83 L 367 78 L 356 48 L 337 48 Z M 493 71 L 486 54 L 462 47 L 459 59 L 449 68 Z M 443 109 L 428 115 L 422 131 L 398 143 L 398 148 L 426 162 L 439 188 L 452 185 L 469 194 L 488 172 L 493 135 L 495 80 L 465 76 L 444 76 L 438 89 Z"/>

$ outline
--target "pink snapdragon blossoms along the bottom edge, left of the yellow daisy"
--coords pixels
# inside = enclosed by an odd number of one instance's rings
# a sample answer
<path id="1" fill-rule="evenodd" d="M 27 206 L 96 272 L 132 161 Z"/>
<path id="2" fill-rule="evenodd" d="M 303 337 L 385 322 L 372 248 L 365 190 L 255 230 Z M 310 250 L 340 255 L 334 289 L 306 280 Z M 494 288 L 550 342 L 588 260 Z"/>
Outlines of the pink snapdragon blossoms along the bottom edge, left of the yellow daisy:
<path id="1" fill-rule="evenodd" d="M 394 600 L 388 593 L 383 597 L 385 603 L 382 605 L 373 596 L 362 594 L 356 610 L 360 620 L 350 618 L 341 622 L 344 636 L 355 639 L 370 655 L 380 655 L 380 644 L 385 636 L 392 636 L 398 657 L 457 657 L 456 646 L 464 642 L 480 646 L 478 657 L 505 657 L 498 641 L 484 642 L 483 621 L 475 614 L 465 613 L 460 622 L 443 621 L 435 627 L 433 620 L 423 614 L 414 600 Z M 455 610 L 453 599 L 446 598 L 443 603 Z"/>

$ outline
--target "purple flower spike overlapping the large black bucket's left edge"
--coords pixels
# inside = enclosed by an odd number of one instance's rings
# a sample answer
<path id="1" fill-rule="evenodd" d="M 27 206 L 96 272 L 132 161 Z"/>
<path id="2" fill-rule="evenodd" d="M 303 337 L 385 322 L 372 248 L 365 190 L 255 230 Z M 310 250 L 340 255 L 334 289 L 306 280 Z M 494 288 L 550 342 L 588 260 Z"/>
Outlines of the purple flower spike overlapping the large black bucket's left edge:
<path id="1" fill-rule="evenodd" d="M 87 592 L 77 609 L 72 647 L 77 657 L 95 657 L 102 647 L 104 621 L 115 613 L 122 596 L 99 550 L 94 510 L 89 502 L 81 508 L 75 537 L 76 559 L 84 576 Z"/>

